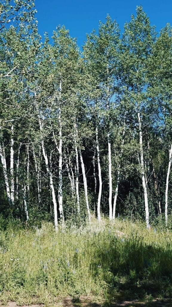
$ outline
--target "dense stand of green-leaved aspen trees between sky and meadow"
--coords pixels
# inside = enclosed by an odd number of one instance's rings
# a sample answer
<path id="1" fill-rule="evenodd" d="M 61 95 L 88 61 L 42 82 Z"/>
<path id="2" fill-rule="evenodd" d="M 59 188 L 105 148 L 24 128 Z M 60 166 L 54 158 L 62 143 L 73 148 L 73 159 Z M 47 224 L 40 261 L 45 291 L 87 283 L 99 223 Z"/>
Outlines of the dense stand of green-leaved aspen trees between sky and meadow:
<path id="1" fill-rule="evenodd" d="M 109 215 L 110 202 L 116 195 L 116 216 L 144 219 L 143 177 L 150 220 L 163 216 L 165 191 L 170 214 L 171 26 L 167 24 L 157 34 L 139 6 L 122 35 L 116 21 L 107 16 L 106 23 L 99 24 L 99 33 L 93 30 L 87 36 L 80 52 L 65 27 L 57 27 L 52 44 L 47 33 L 42 43 L 34 6 L 31 0 L 0 4 L 2 220 L 27 219 L 30 224 L 53 221 L 51 176 L 57 208 L 62 194 L 63 212 L 58 211 L 58 219 L 64 217 L 78 224 L 86 221 L 82 158 L 89 209 L 96 215 L 97 145 L 101 215 Z"/>

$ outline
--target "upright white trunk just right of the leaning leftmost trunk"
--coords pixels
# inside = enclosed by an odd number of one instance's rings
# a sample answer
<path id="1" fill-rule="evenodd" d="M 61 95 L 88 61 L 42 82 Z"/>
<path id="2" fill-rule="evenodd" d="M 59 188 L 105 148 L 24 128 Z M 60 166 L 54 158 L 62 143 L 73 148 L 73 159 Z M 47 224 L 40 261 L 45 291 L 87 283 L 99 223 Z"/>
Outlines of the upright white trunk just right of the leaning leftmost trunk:
<path id="1" fill-rule="evenodd" d="M 11 175 L 11 204 L 14 206 L 14 125 L 11 126 L 11 149 L 10 149 L 10 175 Z"/>

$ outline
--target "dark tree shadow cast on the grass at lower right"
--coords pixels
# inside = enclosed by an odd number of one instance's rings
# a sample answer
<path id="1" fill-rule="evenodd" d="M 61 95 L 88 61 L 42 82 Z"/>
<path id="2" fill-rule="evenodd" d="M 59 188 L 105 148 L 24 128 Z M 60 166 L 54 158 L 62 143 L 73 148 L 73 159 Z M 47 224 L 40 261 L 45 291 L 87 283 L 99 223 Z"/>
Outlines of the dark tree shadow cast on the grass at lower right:
<path id="1" fill-rule="evenodd" d="M 106 285 L 104 297 L 107 303 L 105 305 L 164 306 L 164 304 L 171 304 L 169 301 L 163 303 L 164 299 L 170 300 L 172 297 L 170 244 L 161 246 L 157 242 L 147 244 L 140 238 L 127 239 L 126 237 L 110 237 L 109 240 L 110 249 L 105 251 L 100 246 L 98 257 L 92 263 L 93 278 L 102 285 L 103 283 Z M 159 300 L 154 300 L 155 298 Z M 115 305 L 114 301 L 118 304 Z M 90 306 L 96 307 L 94 304 Z"/>

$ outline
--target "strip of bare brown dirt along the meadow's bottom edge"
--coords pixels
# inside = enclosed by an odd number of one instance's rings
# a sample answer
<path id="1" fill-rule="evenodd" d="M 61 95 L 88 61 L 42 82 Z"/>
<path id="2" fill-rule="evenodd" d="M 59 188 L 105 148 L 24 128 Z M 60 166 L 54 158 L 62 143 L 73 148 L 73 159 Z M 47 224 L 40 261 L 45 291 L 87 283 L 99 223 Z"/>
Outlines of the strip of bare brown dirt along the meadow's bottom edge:
<path id="1" fill-rule="evenodd" d="M 92 300 L 90 297 L 80 297 L 80 299 L 77 299 L 74 301 L 71 297 L 66 297 L 62 301 L 57 301 L 53 304 L 54 307 L 172 307 L 172 301 L 169 299 L 154 299 L 151 302 L 150 301 L 138 301 L 138 300 L 130 300 L 130 301 L 119 301 L 111 302 L 111 303 L 97 303 Z M 2 303 L 0 301 L 0 307 L 18 307 L 16 302 L 8 301 L 6 304 Z M 47 304 L 46 304 L 47 306 Z M 52 306 L 52 303 L 50 303 L 50 306 Z M 44 304 L 30 304 L 30 305 L 22 305 L 21 307 L 44 307 Z"/>

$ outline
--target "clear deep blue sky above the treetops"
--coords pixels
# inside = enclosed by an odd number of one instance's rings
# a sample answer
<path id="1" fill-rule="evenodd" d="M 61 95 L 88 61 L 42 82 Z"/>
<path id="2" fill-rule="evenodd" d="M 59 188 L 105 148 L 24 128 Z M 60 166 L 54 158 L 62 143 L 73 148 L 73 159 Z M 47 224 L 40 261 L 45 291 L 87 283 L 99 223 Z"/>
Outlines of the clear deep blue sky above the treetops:
<path id="1" fill-rule="evenodd" d="M 98 29 L 99 20 L 105 21 L 110 14 L 123 32 L 125 21 L 130 21 L 131 14 L 136 14 L 136 6 L 142 5 L 156 30 L 172 25 L 172 0 L 35 0 L 38 13 L 39 34 L 47 31 L 49 37 L 57 25 L 65 25 L 70 36 L 77 37 L 78 45 L 84 44 L 86 33 Z"/>

